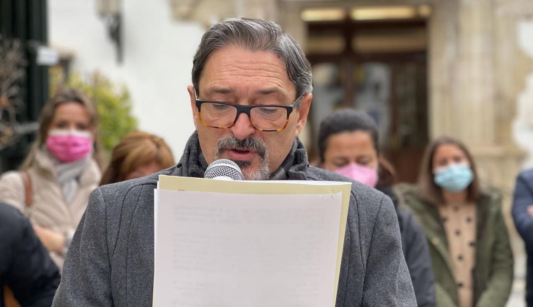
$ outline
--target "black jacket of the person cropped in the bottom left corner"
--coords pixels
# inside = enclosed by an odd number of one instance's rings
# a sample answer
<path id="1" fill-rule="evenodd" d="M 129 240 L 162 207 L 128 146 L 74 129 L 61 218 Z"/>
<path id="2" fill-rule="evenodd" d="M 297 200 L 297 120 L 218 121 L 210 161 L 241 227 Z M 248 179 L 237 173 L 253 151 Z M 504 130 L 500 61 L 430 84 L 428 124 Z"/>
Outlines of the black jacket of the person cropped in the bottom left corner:
<path id="1" fill-rule="evenodd" d="M 59 270 L 30 222 L 16 208 L 0 203 L 0 286 L 9 286 L 24 307 L 44 307 L 52 305 L 59 281 Z"/>

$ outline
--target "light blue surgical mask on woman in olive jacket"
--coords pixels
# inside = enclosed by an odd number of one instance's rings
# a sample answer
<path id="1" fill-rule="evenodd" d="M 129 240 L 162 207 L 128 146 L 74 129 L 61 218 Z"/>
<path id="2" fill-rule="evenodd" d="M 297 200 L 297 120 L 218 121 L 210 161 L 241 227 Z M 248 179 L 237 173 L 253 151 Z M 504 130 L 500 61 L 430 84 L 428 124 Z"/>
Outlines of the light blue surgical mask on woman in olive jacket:
<path id="1" fill-rule="evenodd" d="M 433 173 L 435 184 L 453 193 L 466 189 L 474 180 L 474 173 L 466 163 L 448 164 L 435 169 Z"/>

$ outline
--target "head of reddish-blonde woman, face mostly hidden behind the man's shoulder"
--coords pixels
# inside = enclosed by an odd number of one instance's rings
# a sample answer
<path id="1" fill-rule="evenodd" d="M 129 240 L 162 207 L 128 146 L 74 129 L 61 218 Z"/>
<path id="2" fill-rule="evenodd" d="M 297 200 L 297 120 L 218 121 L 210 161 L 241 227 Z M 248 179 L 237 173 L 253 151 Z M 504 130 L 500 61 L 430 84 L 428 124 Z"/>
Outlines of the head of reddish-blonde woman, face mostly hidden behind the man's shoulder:
<path id="1" fill-rule="evenodd" d="M 173 166 L 172 151 L 159 136 L 132 132 L 113 148 L 100 185 L 146 176 Z"/>

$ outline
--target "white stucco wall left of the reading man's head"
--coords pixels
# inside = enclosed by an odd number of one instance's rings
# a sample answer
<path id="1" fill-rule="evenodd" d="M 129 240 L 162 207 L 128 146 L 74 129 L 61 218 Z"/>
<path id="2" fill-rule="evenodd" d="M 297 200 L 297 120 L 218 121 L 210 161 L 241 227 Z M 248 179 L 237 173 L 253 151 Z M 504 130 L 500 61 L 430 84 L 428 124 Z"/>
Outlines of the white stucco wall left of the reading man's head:
<path id="1" fill-rule="evenodd" d="M 123 1 L 124 59 L 96 13 L 95 0 L 49 0 L 49 41 L 74 52 L 72 70 L 100 70 L 131 92 L 140 130 L 162 136 L 175 159 L 194 130 L 187 85 L 205 29 L 172 20 L 168 1 Z"/>

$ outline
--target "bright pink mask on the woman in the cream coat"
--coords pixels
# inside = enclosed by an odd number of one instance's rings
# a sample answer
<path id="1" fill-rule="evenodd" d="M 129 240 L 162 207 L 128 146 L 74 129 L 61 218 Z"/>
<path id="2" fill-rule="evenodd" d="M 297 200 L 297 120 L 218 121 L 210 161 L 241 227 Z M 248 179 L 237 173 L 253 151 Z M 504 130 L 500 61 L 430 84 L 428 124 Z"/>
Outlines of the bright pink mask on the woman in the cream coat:
<path id="1" fill-rule="evenodd" d="M 46 139 L 46 148 L 63 163 L 85 158 L 92 151 L 91 133 L 75 130 L 51 130 Z"/>

